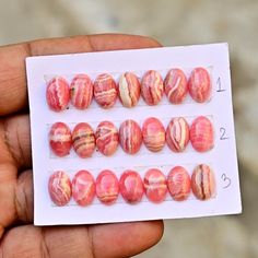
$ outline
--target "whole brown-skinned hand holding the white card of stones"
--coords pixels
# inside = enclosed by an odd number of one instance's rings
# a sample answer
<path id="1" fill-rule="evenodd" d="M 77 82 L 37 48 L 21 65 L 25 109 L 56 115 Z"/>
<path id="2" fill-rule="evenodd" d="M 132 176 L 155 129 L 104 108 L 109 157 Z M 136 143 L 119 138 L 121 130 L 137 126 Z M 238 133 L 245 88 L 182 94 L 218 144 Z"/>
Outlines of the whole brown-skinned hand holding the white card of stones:
<path id="1" fill-rule="evenodd" d="M 106 34 L 0 47 L 0 257 L 130 257 L 160 241 L 162 221 L 33 225 L 32 150 L 24 64 L 30 56 L 160 46 L 151 38 Z"/>

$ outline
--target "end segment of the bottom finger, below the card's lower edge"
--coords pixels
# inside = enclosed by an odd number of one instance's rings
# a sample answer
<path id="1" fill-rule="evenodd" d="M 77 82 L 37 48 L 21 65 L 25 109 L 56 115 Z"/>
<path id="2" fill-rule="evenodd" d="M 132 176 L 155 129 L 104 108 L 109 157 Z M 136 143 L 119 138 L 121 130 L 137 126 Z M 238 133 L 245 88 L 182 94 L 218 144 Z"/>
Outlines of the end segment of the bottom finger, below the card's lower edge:
<path id="1" fill-rule="evenodd" d="M 93 253 L 103 258 L 131 257 L 157 244 L 163 231 L 163 221 L 94 225 L 91 227 Z"/>

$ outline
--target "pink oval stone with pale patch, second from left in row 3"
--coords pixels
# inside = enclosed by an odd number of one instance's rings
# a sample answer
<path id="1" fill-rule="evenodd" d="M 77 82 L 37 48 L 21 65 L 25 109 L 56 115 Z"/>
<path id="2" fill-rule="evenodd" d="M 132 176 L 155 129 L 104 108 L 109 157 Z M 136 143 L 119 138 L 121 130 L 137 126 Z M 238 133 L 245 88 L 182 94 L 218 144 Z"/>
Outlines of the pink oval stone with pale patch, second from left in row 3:
<path id="1" fill-rule="evenodd" d="M 79 206 L 92 203 L 95 196 L 95 183 L 87 171 L 78 172 L 72 179 L 72 197 Z"/>

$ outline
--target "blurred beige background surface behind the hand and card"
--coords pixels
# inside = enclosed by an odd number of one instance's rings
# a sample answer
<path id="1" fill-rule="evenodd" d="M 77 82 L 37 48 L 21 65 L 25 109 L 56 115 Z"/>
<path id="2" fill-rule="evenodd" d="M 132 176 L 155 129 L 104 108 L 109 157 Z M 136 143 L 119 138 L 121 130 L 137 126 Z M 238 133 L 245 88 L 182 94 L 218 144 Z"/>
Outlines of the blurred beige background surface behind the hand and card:
<path id="1" fill-rule="evenodd" d="M 161 243 L 137 257 L 258 257 L 257 0 L 0 0 L 0 45 L 107 32 L 148 35 L 164 46 L 227 42 L 244 213 L 166 221 Z"/>

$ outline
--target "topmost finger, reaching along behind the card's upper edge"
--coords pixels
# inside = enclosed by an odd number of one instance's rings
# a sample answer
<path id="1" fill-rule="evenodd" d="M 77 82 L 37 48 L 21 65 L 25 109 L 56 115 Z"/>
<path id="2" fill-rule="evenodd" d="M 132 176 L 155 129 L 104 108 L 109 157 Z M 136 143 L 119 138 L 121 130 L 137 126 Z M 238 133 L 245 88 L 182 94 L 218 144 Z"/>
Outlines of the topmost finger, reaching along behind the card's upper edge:
<path id="1" fill-rule="evenodd" d="M 8 115 L 27 106 L 26 57 L 159 46 L 161 45 L 156 40 L 142 36 L 105 34 L 0 47 L 0 115 Z"/>

